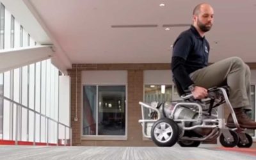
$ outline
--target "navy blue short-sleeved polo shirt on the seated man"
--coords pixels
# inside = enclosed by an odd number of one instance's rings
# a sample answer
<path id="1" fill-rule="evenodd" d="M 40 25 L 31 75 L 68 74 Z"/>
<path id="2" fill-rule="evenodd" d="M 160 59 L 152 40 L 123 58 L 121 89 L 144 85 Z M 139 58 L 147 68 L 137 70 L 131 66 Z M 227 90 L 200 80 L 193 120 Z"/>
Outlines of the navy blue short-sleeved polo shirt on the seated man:
<path id="1" fill-rule="evenodd" d="M 191 28 L 180 33 L 175 40 L 172 56 L 183 58 L 186 72 L 190 74 L 208 65 L 209 42 L 191 25 Z"/>

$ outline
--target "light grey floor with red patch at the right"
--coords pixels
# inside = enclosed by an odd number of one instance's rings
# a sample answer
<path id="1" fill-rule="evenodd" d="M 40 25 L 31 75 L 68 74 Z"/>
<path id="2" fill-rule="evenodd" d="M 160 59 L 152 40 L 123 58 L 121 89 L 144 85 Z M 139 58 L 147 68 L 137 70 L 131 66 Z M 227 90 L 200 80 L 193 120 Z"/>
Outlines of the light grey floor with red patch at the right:
<path id="1" fill-rule="evenodd" d="M 238 150 L 238 152 L 237 152 Z M 47 147 L 0 145 L 0 159 L 256 159 L 255 148 Z"/>

